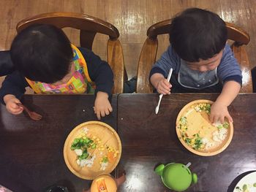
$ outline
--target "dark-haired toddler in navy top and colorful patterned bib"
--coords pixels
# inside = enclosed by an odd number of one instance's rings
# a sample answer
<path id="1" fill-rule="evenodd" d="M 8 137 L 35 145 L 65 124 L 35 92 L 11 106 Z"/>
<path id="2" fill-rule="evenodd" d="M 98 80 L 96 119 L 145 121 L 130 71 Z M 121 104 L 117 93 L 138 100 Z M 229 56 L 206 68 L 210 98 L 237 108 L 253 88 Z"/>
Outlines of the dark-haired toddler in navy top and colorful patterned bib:
<path id="1" fill-rule="evenodd" d="M 18 103 L 27 86 L 35 93 L 95 93 L 97 118 L 112 112 L 109 64 L 91 50 L 71 45 L 60 28 L 37 24 L 23 29 L 10 54 L 16 70 L 4 80 L 0 99 L 13 115 L 23 112 Z"/>

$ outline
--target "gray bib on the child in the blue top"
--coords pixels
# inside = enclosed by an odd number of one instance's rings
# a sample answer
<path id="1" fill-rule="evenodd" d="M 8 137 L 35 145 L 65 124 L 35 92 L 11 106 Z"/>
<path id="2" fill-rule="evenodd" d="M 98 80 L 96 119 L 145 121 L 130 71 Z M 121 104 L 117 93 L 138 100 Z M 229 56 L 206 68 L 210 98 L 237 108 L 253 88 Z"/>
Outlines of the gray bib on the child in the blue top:
<path id="1" fill-rule="evenodd" d="M 186 61 L 181 59 L 181 67 L 178 71 L 178 82 L 185 88 L 208 88 L 219 82 L 217 68 L 208 72 L 198 72 L 190 69 Z"/>

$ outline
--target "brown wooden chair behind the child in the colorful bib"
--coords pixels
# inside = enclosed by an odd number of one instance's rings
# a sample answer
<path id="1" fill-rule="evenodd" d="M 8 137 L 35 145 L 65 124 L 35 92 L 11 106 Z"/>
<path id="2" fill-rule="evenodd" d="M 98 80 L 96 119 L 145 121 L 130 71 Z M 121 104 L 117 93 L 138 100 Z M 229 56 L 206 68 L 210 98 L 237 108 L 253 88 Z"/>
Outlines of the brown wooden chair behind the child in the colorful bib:
<path id="1" fill-rule="evenodd" d="M 108 39 L 108 64 L 114 74 L 113 93 L 123 93 L 124 89 L 124 56 L 121 43 L 118 40 L 118 29 L 112 24 L 98 18 L 75 12 L 51 12 L 36 15 L 21 20 L 16 29 L 22 31 L 34 23 L 44 23 L 59 28 L 76 28 L 80 30 L 80 47 L 92 48 L 94 37 L 97 33 L 109 36 Z"/>

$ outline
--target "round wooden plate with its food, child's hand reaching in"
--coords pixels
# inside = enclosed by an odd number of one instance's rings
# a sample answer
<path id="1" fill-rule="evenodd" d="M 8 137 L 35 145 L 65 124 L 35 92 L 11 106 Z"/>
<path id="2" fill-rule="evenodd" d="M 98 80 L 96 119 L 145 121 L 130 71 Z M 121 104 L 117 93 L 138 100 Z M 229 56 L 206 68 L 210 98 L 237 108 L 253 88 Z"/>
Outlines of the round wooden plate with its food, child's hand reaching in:
<path id="1" fill-rule="evenodd" d="M 212 103 L 213 101 L 204 99 L 195 100 L 185 105 L 178 113 L 176 120 L 178 139 L 187 150 L 197 155 L 217 155 L 227 148 L 233 137 L 233 123 L 226 118 L 225 122 L 228 123 L 225 124 L 226 128 L 223 126 L 217 128 L 211 124 L 205 105 Z M 203 106 L 206 108 L 199 110 Z"/>

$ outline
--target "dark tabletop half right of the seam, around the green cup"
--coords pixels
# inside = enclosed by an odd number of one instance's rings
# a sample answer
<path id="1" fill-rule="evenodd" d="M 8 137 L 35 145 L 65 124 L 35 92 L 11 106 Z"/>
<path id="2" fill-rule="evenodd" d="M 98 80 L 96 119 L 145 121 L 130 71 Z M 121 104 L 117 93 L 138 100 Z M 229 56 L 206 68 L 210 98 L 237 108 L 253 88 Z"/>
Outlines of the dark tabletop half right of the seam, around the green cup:
<path id="1" fill-rule="evenodd" d="M 239 94 L 230 105 L 234 120 L 232 142 L 218 155 L 203 157 L 190 153 L 176 136 L 176 117 L 189 101 L 209 99 L 218 94 L 173 93 L 164 96 L 158 115 L 154 109 L 157 94 L 121 94 L 118 96 L 118 134 L 122 157 L 118 172 L 127 172 L 120 191 L 168 191 L 154 173 L 157 164 L 187 164 L 198 176 L 188 191 L 229 191 L 239 174 L 256 170 L 256 94 Z M 235 183 L 236 184 L 236 183 Z"/>

